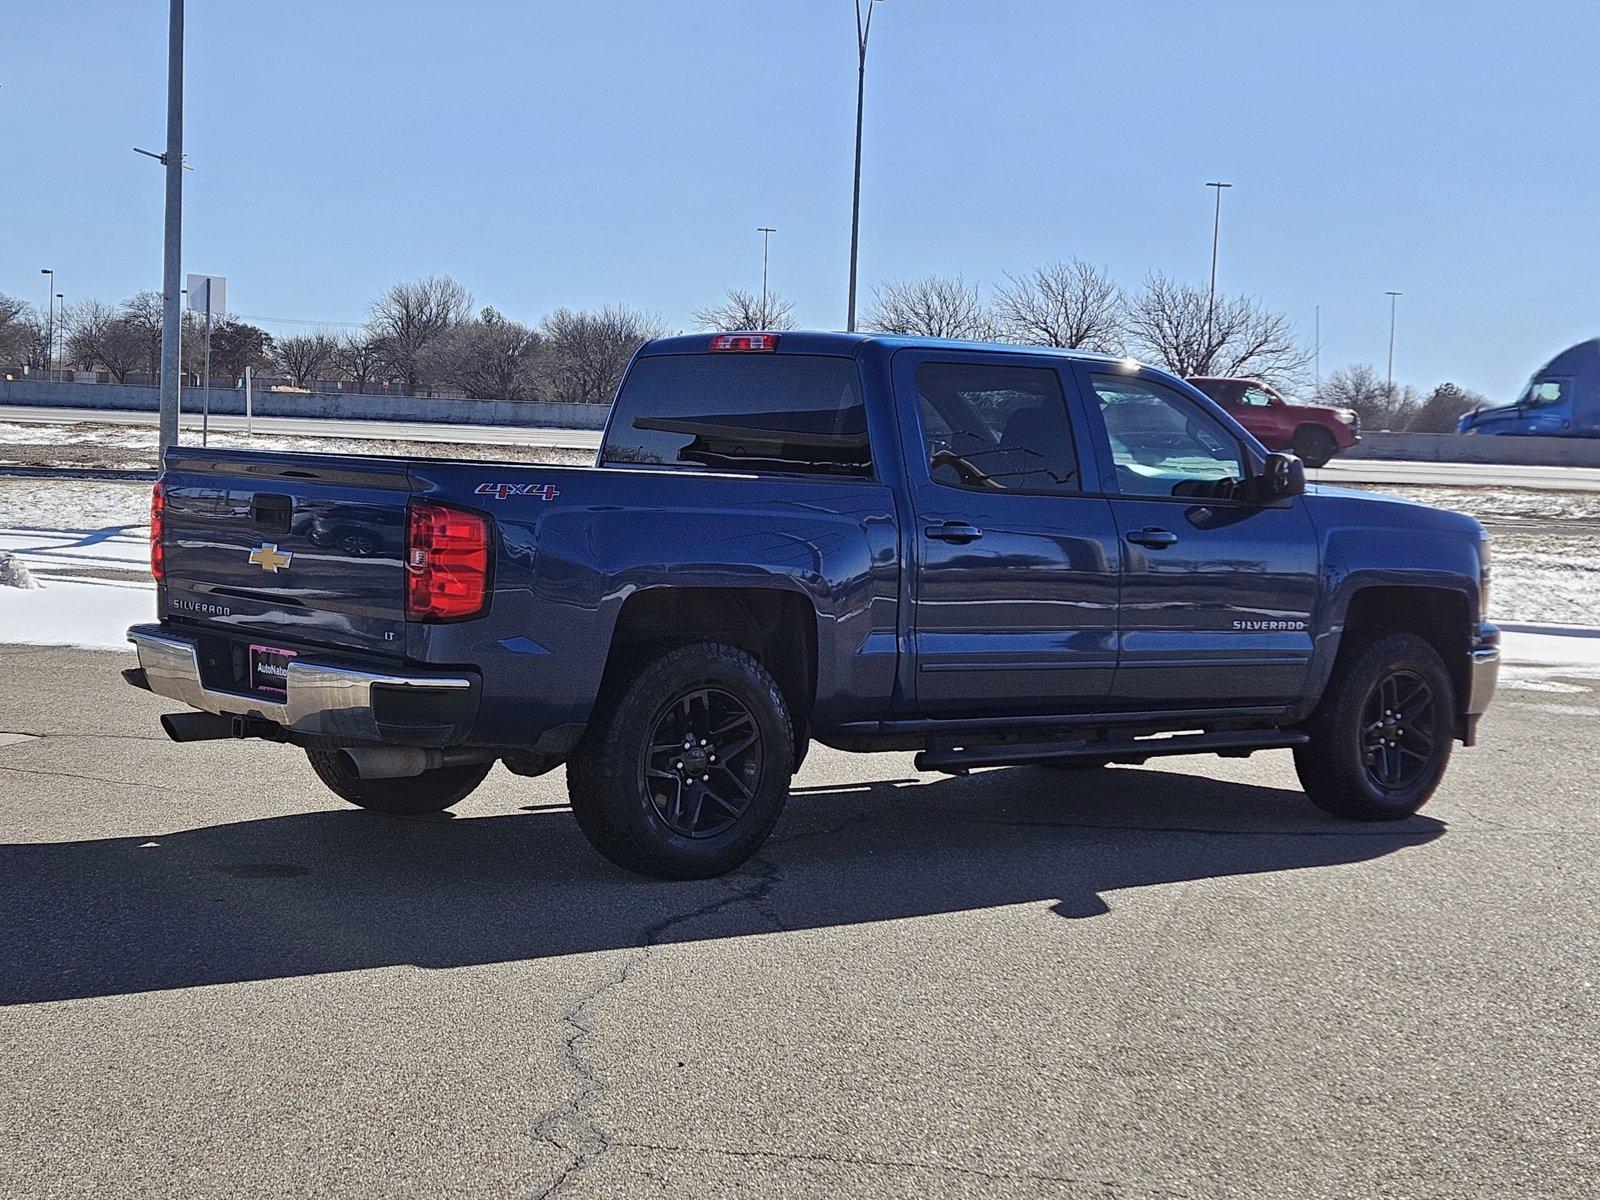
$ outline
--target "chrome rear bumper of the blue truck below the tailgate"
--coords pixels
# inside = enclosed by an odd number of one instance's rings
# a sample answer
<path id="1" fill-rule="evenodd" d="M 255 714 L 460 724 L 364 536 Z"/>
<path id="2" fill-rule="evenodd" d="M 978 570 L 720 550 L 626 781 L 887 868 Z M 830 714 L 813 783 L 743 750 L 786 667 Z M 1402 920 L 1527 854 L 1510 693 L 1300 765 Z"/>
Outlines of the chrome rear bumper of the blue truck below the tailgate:
<path id="1" fill-rule="evenodd" d="M 435 744 L 443 726 L 453 723 L 450 717 L 442 717 L 440 726 L 429 726 L 426 734 L 418 730 L 422 736 L 397 736 L 392 725 L 386 726 L 378 720 L 374 690 L 437 691 L 443 701 L 440 709 L 459 712 L 459 702 L 475 683 L 469 675 L 395 675 L 296 658 L 288 664 L 283 699 L 272 701 L 259 694 L 208 688 L 202 680 L 200 651 L 194 638 L 162 626 L 134 626 L 128 630 L 128 640 L 139 653 L 146 685 L 158 696 L 202 712 L 256 717 L 296 733 L 341 741 Z"/>

